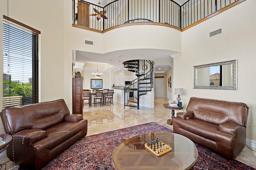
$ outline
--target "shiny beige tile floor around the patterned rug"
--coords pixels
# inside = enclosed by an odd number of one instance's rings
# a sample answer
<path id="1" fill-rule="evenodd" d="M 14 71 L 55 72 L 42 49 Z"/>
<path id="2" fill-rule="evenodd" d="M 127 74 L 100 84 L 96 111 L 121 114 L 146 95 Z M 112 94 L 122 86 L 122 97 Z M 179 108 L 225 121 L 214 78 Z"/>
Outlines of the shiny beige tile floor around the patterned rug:
<path id="1" fill-rule="evenodd" d="M 171 111 L 165 109 L 163 103 L 167 103 L 166 98 L 156 97 L 154 108 L 140 107 L 139 110 L 132 107 L 124 108 L 124 105 L 118 103 L 103 107 L 85 106 L 83 115 L 84 119 L 88 120 L 87 136 L 153 121 L 172 129 L 172 125 L 167 124 Z M 186 110 L 185 107 L 184 110 Z M 180 111 L 175 111 L 175 113 Z M 256 150 L 256 148 L 252 149 Z M 256 152 L 250 150 L 247 146 L 244 147 L 244 150 L 236 159 L 256 168 Z M 8 160 L 6 156 L 0 157 L 0 163 L 4 163 L 6 160 Z M 14 163 L 8 162 L 6 169 L 16 169 L 14 166 Z"/>

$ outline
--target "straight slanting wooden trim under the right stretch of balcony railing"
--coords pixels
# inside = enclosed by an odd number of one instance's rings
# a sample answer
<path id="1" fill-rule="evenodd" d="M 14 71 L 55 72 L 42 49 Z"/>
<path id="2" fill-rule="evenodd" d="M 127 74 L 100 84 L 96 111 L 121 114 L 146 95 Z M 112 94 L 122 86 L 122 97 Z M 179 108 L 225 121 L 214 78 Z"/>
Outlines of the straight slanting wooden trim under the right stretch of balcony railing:
<path id="1" fill-rule="evenodd" d="M 186 30 L 188 30 L 189 28 L 191 28 L 191 27 L 193 27 L 193 26 L 196 26 L 197 24 L 200 24 L 201 22 L 204 22 L 204 21 L 206 21 L 206 20 L 208 20 L 208 19 L 210 19 L 210 18 L 212 18 L 212 17 L 214 17 L 214 16 L 216 16 L 216 15 L 218 15 L 218 14 L 220 14 L 220 13 L 226 11 L 226 10 L 228 10 L 229 8 L 232 8 L 233 6 L 236 6 L 237 4 L 240 4 L 241 2 L 244 2 L 244 1 L 246 1 L 246 0 L 238 0 L 238 1 L 235 1 L 235 2 L 233 2 L 232 4 L 229 4 L 228 6 L 225 6 L 224 8 L 221 8 L 220 10 L 218 10 L 218 11 L 216 11 L 216 12 L 210 14 L 209 16 L 206 16 L 205 18 L 202 18 L 201 20 L 195 22 L 194 24 L 191 24 L 190 26 L 187 26 L 187 27 L 183 28 L 183 29 L 182 29 L 182 32 L 183 32 L 183 31 L 186 31 Z"/>

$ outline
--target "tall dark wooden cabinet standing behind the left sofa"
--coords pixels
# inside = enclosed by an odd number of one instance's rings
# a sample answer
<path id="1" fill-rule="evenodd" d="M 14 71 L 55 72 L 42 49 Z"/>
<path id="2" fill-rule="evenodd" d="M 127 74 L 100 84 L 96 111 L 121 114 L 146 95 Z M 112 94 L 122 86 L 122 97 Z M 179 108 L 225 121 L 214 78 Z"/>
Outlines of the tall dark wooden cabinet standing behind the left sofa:
<path id="1" fill-rule="evenodd" d="M 72 81 L 72 103 L 73 103 L 73 114 L 83 114 L 83 79 L 73 78 Z"/>

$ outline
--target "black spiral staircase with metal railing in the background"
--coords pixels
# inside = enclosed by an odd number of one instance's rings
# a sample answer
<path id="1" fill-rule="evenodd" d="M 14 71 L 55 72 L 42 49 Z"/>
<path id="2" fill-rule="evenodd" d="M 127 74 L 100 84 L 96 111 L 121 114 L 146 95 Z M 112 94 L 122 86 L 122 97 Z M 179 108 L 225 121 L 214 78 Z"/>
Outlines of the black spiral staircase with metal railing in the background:
<path id="1" fill-rule="evenodd" d="M 124 61 L 123 64 L 137 76 L 137 79 L 124 87 L 124 107 L 140 109 L 140 96 L 146 95 L 153 88 L 153 61 L 138 59 Z"/>

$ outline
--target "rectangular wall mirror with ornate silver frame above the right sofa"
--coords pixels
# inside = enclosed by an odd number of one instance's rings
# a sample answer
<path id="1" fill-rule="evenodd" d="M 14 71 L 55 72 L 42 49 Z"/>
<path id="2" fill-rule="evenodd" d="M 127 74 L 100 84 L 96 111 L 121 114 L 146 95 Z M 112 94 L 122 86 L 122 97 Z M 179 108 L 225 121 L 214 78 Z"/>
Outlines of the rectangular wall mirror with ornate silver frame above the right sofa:
<path id="1" fill-rule="evenodd" d="M 193 67 L 194 89 L 236 90 L 236 60 Z"/>

